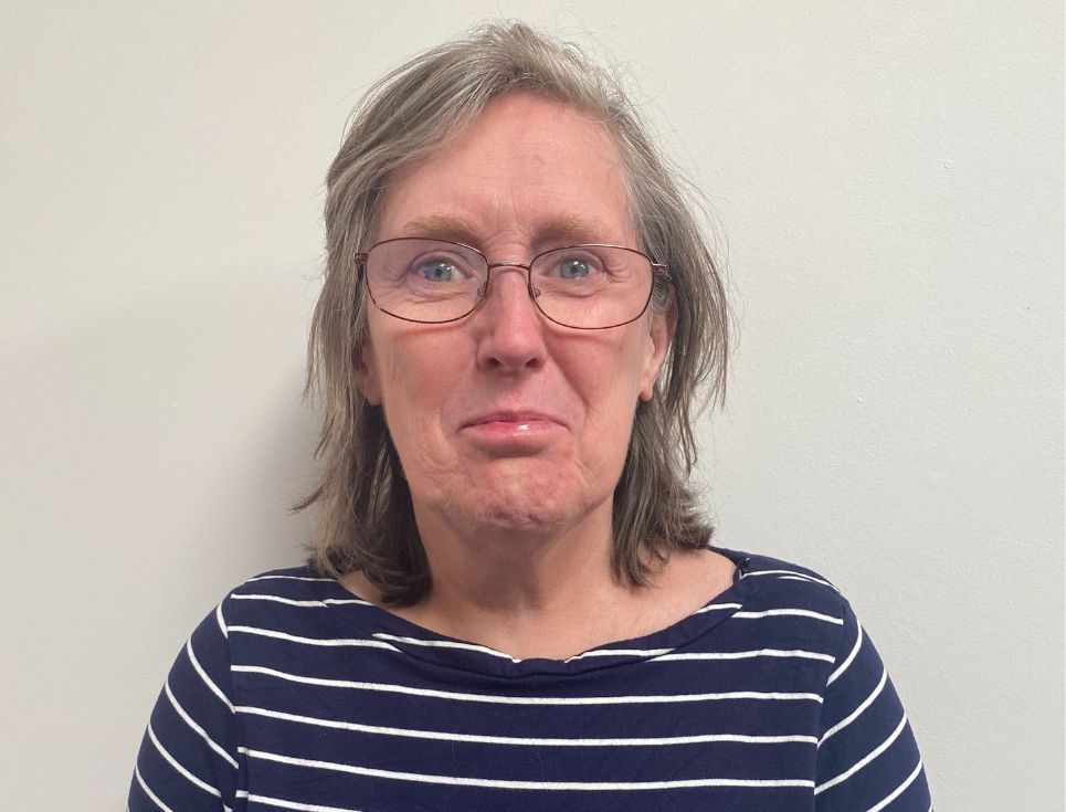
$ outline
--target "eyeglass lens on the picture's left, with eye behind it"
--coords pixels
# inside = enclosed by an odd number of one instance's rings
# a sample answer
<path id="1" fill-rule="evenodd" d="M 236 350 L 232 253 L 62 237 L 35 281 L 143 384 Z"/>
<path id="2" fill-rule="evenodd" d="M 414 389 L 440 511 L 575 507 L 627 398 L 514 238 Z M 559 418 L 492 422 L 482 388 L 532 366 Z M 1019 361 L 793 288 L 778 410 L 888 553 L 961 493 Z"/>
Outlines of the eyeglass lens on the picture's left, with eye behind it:
<path id="1" fill-rule="evenodd" d="M 387 240 L 367 256 L 367 284 L 374 304 L 412 321 L 462 318 L 477 305 L 487 277 L 484 256 L 441 240 Z"/>

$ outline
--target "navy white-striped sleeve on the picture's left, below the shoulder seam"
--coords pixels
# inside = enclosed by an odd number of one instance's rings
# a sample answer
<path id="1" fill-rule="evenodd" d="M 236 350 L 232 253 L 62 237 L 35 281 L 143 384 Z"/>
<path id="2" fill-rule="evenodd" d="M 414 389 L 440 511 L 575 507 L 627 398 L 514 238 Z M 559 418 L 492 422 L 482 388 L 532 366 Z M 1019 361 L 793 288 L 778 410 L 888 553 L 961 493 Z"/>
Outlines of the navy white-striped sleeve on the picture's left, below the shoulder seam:
<path id="1" fill-rule="evenodd" d="M 151 711 L 129 788 L 129 812 L 224 812 L 238 782 L 238 736 L 225 603 L 178 654 Z"/>

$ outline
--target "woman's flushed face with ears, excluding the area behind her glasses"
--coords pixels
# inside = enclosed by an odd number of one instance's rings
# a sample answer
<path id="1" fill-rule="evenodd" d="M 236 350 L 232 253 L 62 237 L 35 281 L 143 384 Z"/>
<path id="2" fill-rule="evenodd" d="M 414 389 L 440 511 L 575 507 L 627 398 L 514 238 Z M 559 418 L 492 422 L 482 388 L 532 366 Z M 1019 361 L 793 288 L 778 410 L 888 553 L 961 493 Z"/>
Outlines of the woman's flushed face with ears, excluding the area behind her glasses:
<path id="1" fill-rule="evenodd" d="M 397 236 L 463 242 L 490 262 L 578 243 L 637 247 L 604 128 L 525 93 L 495 99 L 456 143 L 393 178 L 376 239 Z M 460 321 L 367 309 L 357 379 L 384 408 L 423 538 L 439 523 L 564 532 L 610 516 L 667 316 L 650 308 L 622 327 L 562 327 L 537 309 L 520 268 L 495 268 L 487 298 Z"/>

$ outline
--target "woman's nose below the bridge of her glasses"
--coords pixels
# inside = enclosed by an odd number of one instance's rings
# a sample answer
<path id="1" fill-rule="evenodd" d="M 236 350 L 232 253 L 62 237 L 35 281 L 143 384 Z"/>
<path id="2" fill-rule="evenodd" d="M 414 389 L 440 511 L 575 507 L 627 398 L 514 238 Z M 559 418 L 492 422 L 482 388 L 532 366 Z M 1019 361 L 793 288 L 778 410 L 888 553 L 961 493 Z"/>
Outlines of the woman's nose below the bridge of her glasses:
<path id="1" fill-rule="evenodd" d="M 478 366 L 511 372 L 543 366 L 545 323 L 529 296 L 526 267 L 494 263 L 487 284 L 471 325 L 477 339 Z"/>

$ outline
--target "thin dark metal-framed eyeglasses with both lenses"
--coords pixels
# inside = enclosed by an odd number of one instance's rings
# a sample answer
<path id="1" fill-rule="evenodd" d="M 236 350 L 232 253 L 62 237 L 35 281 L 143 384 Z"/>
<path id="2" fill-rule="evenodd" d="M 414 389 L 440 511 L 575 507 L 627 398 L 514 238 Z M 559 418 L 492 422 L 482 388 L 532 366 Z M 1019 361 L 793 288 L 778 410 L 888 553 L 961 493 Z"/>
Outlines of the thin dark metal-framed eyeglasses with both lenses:
<path id="1" fill-rule="evenodd" d="M 457 321 L 488 293 L 492 271 L 526 272 L 529 297 L 556 324 L 583 330 L 620 327 L 640 318 L 666 266 L 635 249 L 571 245 L 537 254 L 528 265 L 489 262 L 477 249 L 447 240 L 401 236 L 356 254 L 379 310 L 421 324 Z"/>

